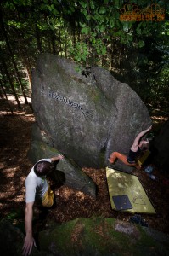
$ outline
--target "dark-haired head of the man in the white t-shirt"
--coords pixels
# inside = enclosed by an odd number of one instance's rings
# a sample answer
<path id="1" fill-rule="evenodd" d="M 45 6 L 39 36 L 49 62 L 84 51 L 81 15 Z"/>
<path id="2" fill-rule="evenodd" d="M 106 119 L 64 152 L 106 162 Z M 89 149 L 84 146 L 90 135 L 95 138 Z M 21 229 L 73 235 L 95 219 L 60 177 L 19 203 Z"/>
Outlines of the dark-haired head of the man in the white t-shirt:
<path id="1" fill-rule="evenodd" d="M 39 161 L 34 166 L 34 172 L 38 177 L 46 176 L 49 172 L 52 171 L 52 164 L 48 161 Z"/>

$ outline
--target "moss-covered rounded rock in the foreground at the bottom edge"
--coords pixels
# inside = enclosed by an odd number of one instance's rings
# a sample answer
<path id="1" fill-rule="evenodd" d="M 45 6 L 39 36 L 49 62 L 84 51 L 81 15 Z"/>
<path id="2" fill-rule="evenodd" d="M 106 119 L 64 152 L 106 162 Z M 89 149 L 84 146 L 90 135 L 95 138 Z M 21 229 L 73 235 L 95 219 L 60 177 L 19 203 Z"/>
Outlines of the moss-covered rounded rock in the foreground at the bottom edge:
<path id="1" fill-rule="evenodd" d="M 168 236 L 115 218 L 77 218 L 39 238 L 42 251 L 60 256 L 169 255 Z"/>

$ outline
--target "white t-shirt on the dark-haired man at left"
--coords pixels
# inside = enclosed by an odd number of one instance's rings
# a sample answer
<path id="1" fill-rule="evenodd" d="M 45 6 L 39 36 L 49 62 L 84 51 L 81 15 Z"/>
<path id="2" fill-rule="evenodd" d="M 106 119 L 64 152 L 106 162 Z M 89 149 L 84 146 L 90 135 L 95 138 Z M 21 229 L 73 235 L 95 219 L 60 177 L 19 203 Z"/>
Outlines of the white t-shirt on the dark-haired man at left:
<path id="1" fill-rule="evenodd" d="M 48 161 L 50 159 L 41 159 L 39 161 Z M 39 162 L 38 161 L 38 162 Z M 34 166 L 31 168 L 31 172 L 25 179 L 25 202 L 33 202 L 36 199 L 42 199 L 42 196 L 48 190 L 48 182 L 46 176 L 38 177 L 34 172 Z"/>

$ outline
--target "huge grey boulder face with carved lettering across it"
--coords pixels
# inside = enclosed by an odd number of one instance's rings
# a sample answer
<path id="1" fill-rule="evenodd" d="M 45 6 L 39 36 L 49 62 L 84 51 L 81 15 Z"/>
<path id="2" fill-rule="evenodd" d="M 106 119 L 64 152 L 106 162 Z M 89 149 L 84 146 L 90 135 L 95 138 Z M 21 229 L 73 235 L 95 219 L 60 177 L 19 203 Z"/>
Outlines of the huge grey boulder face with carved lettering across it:
<path id="1" fill-rule="evenodd" d="M 151 123 L 144 102 L 109 71 L 79 72 L 49 54 L 40 55 L 33 73 L 32 106 L 49 145 L 80 166 L 103 167 L 112 151 L 127 154 Z"/>

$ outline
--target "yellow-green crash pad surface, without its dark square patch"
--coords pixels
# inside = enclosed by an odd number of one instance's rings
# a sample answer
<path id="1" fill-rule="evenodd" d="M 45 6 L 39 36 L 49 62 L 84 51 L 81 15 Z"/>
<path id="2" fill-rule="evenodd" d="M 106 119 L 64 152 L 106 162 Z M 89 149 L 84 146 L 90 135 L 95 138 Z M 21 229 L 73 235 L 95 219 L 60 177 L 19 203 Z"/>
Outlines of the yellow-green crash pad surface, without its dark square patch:
<path id="1" fill-rule="evenodd" d="M 156 213 L 138 177 L 109 167 L 106 167 L 106 177 L 113 210 L 116 210 L 116 208 L 112 196 L 127 195 L 132 204 L 132 209 L 122 210 L 122 212 Z"/>

